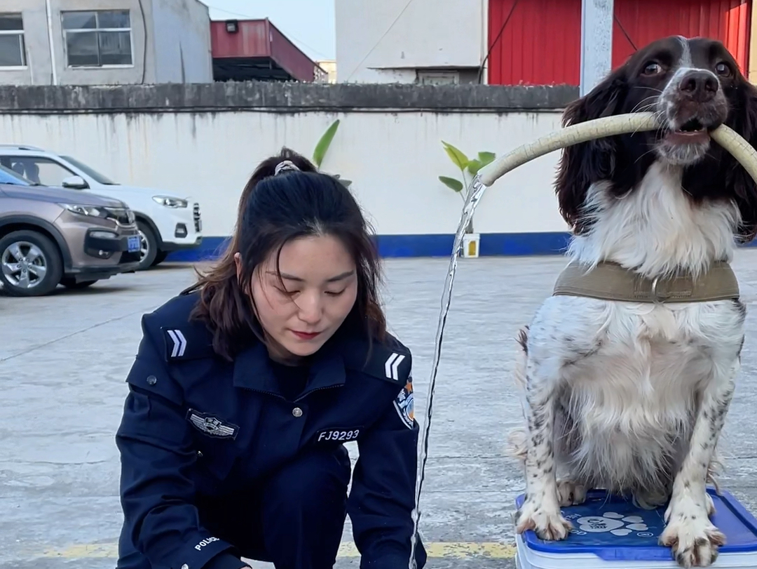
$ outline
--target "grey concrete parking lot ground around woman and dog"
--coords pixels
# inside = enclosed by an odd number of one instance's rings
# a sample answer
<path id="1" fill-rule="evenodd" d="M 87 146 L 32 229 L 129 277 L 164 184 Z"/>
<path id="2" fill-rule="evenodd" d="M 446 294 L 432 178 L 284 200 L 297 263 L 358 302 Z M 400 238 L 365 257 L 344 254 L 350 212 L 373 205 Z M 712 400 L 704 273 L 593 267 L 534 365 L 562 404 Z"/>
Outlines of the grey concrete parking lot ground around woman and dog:
<path id="1" fill-rule="evenodd" d="M 413 350 L 419 420 L 447 262 L 386 262 L 388 320 Z M 513 338 L 563 264 L 558 257 L 459 264 L 421 502 L 428 567 L 514 567 L 512 511 L 522 477 L 503 455 L 506 433 L 521 418 L 510 377 Z M 735 267 L 749 331 L 721 485 L 757 512 L 757 251 L 740 252 Z M 0 296 L 0 568 L 114 567 L 122 521 L 114 432 L 139 319 L 192 279 L 192 267 L 167 264 L 84 291 Z M 337 567 L 359 563 L 347 524 Z"/>

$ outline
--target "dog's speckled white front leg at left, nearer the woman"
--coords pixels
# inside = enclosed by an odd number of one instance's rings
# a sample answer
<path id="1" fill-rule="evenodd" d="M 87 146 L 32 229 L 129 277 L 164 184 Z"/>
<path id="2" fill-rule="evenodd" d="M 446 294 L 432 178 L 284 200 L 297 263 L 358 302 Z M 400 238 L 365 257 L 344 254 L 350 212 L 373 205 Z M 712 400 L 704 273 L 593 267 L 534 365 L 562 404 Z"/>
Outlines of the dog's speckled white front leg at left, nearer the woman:
<path id="1" fill-rule="evenodd" d="M 516 517 L 516 531 L 534 530 L 540 539 L 565 539 L 572 527 L 560 512 L 555 456 L 555 385 L 528 361 L 525 395 L 526 498 Z"/>

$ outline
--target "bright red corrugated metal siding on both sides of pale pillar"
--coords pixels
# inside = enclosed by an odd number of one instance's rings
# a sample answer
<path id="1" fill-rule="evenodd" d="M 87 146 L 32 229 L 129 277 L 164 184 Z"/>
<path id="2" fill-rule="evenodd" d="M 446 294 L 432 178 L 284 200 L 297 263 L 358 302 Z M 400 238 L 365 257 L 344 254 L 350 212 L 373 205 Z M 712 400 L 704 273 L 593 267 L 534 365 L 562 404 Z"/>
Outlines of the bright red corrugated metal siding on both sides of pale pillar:
<path id="1" fill-rule="evenodd" d="M 612 66 L 622 64 L 634 52 L 633 45 L 640 48 L 654 39 L 681 34 L 720 39 L 746 72 L 751 3 L 615 0 Z M 581 0 L 489 0 L 488 29 L 489 83 L 578 85 Z"/>

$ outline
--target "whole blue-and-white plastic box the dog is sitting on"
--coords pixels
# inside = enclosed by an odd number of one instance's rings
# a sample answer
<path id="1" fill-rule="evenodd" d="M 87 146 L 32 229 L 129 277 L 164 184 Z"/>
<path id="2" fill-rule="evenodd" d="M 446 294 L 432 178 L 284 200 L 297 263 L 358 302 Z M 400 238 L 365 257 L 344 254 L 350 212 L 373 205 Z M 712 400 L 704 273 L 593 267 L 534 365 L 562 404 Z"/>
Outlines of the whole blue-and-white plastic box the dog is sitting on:
<path id="1" fill-rule="evenodd" d="M 731 496 L 707 490 L 715 502 L 712 523 L 726 536 L 712 569 L 757 569 L 757 519 Z M 516 499 L 520 508 L 525 496 Z M 673 569 L 671 549 L 660 546 L 665 507 L 641 510 L 606 492 L 588 493 L 582 505 L 562 508 L 573 523 L 566 539 L 547 542 L 528 530 L 516 535 L 519 569 Z"/>

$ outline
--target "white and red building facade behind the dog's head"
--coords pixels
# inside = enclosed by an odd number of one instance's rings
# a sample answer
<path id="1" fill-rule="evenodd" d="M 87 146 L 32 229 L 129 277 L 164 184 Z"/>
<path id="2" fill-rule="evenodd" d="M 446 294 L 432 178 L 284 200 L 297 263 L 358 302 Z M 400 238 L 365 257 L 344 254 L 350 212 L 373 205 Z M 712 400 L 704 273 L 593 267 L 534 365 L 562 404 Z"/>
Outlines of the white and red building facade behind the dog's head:
<path id="1" fill-rule="evenodd" d="M 441 9 L 438 0 L 336 0 L 337 80 L 578 86 L 581 2 L 445 0 Z M 612 66 L 664 36 L 708 36 L 755 82 L 755 8 L 753 0 L 614 0 Z"/>

